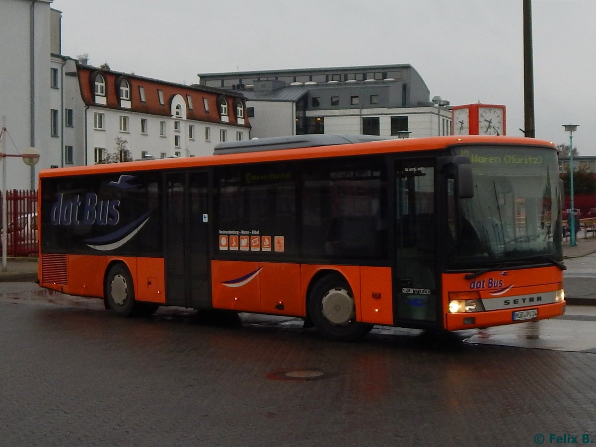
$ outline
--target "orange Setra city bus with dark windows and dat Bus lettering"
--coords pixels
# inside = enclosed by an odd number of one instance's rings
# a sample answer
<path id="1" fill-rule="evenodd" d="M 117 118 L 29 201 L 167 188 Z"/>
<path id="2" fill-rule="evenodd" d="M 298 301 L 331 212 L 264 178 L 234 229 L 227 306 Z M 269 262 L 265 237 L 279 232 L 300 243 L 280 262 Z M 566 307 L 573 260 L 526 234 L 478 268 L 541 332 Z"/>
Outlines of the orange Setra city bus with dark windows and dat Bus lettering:
<path id="1" fill-rule="evenodd" d="M 40 285 L 120 316 L 297 316 L 334 340 L 565 312 L 552 143 L 374 139 L 263 138 L 42 170 Z"/>

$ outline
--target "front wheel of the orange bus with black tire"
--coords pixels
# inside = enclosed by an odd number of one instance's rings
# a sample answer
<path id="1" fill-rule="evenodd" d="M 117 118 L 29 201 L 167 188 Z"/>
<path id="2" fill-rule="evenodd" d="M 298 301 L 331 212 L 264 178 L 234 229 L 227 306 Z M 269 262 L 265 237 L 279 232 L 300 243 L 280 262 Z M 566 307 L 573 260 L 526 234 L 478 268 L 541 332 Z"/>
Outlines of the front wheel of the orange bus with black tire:
<path id="1" fill-rule="evenodd" d="M 352 290 L 339 275 L 327 275 L 316 282 L 308 297 L 308 309 L 316 330 L 330 340 L 352 342 L 374 326 L 356 321 Z"/>

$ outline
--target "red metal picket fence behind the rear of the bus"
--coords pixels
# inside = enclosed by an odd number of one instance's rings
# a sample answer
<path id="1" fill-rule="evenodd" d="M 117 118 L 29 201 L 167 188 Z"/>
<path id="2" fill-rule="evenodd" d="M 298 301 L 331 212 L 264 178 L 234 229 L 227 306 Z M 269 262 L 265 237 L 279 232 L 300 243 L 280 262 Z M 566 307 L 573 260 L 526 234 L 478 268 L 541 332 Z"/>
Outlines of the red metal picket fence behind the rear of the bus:
<path id="1" fill-rule="evenodd" d="M 37 256 L 37 199 L 37 191 L 7 191 L 7 256 Z"/>

